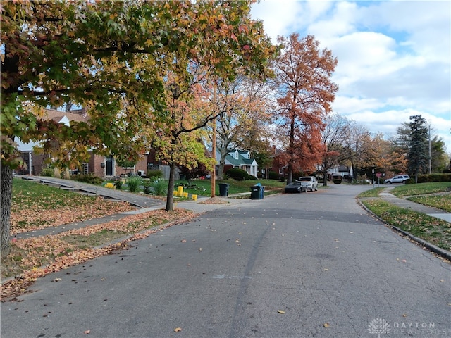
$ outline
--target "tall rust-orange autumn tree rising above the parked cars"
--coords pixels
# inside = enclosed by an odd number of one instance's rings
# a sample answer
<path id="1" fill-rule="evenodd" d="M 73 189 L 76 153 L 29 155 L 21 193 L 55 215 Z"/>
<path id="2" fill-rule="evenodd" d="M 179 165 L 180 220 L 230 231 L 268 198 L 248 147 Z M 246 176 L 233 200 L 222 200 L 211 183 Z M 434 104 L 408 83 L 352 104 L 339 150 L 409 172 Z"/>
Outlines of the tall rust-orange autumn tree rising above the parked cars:
<path id="1" fill-rule="evenodd" d="M 330 77 L 337 59 L 328 49 L 319 50 L 314 36 L 279 37 L 282 52 L 275 63 L 278 84 L 279 134 L 283 135 L 288 161 L 288 182 L 293 170 L 314 171 L 321 163 L 323 119 L 330 113 L 337 84 Z"/>

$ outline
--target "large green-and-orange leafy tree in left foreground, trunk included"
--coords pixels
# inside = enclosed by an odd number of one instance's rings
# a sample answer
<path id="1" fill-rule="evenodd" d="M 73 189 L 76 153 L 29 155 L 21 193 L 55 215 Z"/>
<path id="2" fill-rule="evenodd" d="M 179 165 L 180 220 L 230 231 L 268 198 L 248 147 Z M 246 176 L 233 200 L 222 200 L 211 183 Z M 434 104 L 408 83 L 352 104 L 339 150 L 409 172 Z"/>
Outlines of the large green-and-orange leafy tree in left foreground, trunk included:
<path id="1" fill-rule="evenodd" d="M 1 254 L 8 253 L 16 137 L 85 161 L 88 150 L 146 149 L 171 119 L 166 75 L 191 81 L 187 60 L 233 77 L 264 75 L 273 53 L 252 1 L 4 1 L 1 6 Z M 89 123 L 45 120 L 39 107 L 82 105 Z M 32 107 L 32 108 L 29 108 Z M 147 132 L 142 132 L 147 130 Z M 58 145 L 57 147 L 55 145 Z M 70 156 L 67 156 L 70 154 Z"/>

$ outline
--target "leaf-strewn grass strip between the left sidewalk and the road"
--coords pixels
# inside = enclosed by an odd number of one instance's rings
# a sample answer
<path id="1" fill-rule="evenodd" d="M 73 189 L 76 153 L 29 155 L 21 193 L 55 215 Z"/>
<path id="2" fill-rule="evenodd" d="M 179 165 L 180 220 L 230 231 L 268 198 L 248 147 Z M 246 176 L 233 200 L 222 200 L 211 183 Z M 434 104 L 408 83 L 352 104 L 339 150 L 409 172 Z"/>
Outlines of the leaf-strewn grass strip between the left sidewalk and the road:
<path id="1" fill-rule="evenodd" d="M 161 209 L 55 235 L 17 239 L 11 243 L 11 253 L 1 260 L 2 279 L 14 277 L 2 282 L 1 301 L 27 292 L 38 277 L 125 249 L 132 240 L 185 222 L 194 215 L 185 209 Z"/>

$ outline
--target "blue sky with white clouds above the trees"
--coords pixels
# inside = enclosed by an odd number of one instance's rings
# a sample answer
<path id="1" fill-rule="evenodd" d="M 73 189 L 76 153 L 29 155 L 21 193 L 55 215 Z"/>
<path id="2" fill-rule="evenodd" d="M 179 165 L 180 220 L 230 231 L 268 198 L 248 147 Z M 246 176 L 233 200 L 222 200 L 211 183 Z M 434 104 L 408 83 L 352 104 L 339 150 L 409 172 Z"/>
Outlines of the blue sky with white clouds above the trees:
<path id="1" fill-rule="evenodd" d="M 261 0 L 251 13 L 274 43 L 310 34 L 338 58 L 333 111 L 387 138 L 421 114 L 451 151 L 451 1 Z"/>

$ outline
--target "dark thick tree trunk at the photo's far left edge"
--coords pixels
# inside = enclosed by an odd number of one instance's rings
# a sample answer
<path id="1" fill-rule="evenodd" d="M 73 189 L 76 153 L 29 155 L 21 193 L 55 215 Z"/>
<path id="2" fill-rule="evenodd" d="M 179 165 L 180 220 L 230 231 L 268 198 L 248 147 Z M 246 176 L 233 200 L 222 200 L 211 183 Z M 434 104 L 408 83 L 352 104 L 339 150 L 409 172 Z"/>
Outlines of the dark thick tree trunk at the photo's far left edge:
<path id="1" fill-rule="evenodd" d="M 0 204 L 0 250 L 1 257 L 8 256 L 10 251 L 11 203 L 13 197 L 13 170 L 0 161 L 1 204 Z"/>

